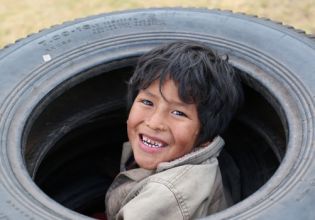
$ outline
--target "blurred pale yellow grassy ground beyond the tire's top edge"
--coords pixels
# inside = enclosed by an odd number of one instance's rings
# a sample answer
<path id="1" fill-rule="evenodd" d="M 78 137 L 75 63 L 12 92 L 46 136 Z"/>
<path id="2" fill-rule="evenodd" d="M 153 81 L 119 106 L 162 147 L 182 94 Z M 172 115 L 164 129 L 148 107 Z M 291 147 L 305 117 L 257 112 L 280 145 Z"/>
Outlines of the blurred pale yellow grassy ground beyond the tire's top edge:
<path id="1" fill-rule="evenodd" d="M 270 18 L 315 34 L 315 0 L 0 0 L 0 48 L 75 18 L 150 7 L 202 7 Z"/>

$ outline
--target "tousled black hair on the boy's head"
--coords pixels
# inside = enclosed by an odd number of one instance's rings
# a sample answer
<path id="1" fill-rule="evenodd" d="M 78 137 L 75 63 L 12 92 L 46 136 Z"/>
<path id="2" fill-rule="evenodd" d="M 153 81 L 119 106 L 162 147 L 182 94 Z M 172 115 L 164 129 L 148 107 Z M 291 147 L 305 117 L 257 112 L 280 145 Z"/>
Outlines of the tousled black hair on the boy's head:
<path id="1" fill-rule="evenodd" d="M 163 83 L 171 79 L 179 98 L 197 106 L 201 128 L 195 146 L 211 141 L 228 127 L 243 101 L 240 79 L 225 57 L 194 41 L 176 41 L 145 53 L 128 83 L 129 108 L 153 81 L 160 80 L 162 94 Z"/>

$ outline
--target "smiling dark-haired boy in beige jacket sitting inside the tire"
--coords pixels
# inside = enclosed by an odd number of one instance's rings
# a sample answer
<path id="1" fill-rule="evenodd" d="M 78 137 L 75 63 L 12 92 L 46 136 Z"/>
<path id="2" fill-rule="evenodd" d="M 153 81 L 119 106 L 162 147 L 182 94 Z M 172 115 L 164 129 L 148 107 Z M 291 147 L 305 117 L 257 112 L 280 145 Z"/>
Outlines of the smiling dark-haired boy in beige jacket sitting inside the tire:
<path id="1" fill-rule="evenodd" d="M 192 41 L 143 55 L 129 81 L 129 142 L 108 219 L 194 219 L 227 207 L 219 136 L 242 101 L 227 60 Z"/>

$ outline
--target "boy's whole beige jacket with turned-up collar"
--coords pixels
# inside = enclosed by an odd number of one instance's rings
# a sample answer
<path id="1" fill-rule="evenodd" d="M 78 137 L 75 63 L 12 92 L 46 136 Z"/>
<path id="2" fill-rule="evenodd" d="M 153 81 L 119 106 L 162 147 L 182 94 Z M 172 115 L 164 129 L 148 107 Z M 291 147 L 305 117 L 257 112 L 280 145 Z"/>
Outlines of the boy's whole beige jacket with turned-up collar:
<path id="1" fill-rule="evenodd" d="M 156 170 L 125 170 L 132 155 L 125 143 L 122 172 L 107 191 L 105 204 L 111 219 L 195 219 L 227 207 L 217 156 L 224 144 L 216 137 L 207 147 Z"/>

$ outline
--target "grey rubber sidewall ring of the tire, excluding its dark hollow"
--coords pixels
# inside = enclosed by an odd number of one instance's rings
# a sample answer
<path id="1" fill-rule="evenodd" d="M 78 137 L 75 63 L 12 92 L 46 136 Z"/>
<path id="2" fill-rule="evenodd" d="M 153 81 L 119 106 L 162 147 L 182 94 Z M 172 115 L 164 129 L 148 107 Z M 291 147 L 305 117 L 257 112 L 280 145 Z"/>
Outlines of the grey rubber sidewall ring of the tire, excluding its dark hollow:
<path id="1" fill-rule="evenodd" d="M 0 51 L 0 219 L 87 218 L 46 196 L 32 180 L 25 145 L 33 111 L 45 106 L 50 94 L 92 77 L 89 68 L 132 59 L 176 39 L 202 41 L 228 54 L 232 65 L 246 73 L 244 82 L 266 97 L 285 127 L 285 155 L 272 178 L 207 219 L 315 218 L 314 41 L 243 14 L 161 8 L 75 20 Z"/>

